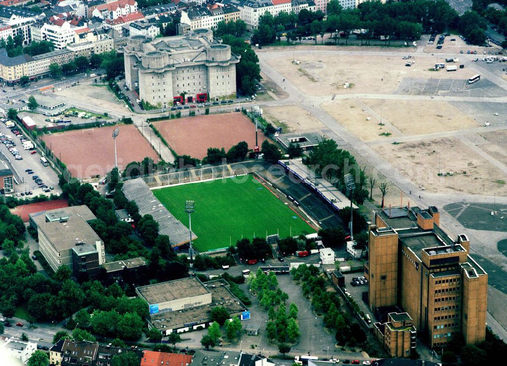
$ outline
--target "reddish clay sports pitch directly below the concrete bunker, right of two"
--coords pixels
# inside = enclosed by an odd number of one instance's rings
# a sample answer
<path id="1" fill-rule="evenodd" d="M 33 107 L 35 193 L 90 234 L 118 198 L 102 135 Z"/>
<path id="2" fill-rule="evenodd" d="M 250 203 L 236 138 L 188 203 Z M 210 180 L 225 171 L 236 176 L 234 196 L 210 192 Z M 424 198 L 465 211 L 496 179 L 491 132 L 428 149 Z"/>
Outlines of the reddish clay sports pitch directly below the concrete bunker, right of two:
<path id="1" fill-rule="evenodd" d="M 241 141 L 248 148 L 255 146 L 255 126 L 240 112 L 196 116 L 153 122 L 172 150 L 178 155 L 202 159 L 208 148 L 224 148 L 227 152 Z M 258 133 L 259 146 L 266 139 Z"/>

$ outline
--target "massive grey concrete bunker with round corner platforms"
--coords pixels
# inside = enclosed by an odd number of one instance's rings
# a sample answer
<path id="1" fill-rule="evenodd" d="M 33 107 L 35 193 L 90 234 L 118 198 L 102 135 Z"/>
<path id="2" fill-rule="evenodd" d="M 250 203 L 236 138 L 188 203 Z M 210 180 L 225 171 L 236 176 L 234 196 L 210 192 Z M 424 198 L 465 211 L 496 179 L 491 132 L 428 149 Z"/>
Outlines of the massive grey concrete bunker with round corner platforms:
<path id="1" fill-rule="evenodd" d="M 188 36 L 152 40 L 134 35 L 124 47 L 125 82 L 153 105 L 236 95 L 236 63 L 229 45 L 213 40 L 213 32 L 195 29 Z M 181 100 L 183 101 L 183 100 Z"/>

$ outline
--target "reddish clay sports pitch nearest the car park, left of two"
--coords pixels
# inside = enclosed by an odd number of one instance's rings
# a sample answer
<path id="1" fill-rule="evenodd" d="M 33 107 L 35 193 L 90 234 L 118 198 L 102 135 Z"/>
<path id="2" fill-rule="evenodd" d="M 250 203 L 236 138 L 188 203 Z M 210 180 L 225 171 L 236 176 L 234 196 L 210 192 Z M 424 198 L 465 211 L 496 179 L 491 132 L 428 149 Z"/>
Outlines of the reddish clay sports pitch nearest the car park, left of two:
<path id="1" fill-rule="evenodd" d="M 43 140 L 75 177 L 90 178 L 104 175 L 115 167 L 115 144 L 112 138 L 116 127 L 90 128 L 45 135 Z M 150 143 L 133 125 L 120 126 L 116 139 L 120 170 L 132 161 L 149 157 L 159 161 Z"/>

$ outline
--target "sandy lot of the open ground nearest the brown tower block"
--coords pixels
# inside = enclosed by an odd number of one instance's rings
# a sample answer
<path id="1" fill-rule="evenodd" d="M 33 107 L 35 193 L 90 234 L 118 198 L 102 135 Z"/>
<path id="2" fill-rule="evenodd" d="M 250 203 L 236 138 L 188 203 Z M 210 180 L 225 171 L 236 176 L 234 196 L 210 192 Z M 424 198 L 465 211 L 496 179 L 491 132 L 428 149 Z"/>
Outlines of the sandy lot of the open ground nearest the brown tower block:
<path id="1" fill-rule="evenodd" d="M 429 192 L 507 195 L 507 175 L 455 138 L 388 143 L 373 149 Z M 440 171 L 452 176 L 437 175 L 439 160 Z"/>

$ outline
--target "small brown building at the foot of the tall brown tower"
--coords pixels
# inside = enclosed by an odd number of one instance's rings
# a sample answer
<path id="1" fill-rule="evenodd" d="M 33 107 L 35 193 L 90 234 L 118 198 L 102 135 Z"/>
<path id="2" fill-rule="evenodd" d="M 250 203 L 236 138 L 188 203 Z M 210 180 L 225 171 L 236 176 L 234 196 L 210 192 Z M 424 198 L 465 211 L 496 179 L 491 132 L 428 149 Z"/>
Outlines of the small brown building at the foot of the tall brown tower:
<path id="1" fill-rule="evenodd" d="M 389 313 L 385 323 L 374 323 L 378 340 L 391 357 L 409 357 L 416 348 L 417 330 L 407 313 Z"/>

